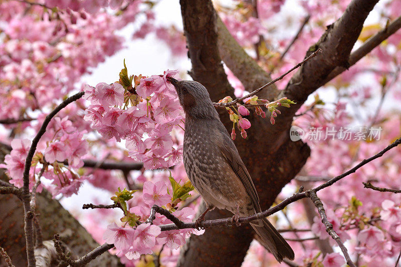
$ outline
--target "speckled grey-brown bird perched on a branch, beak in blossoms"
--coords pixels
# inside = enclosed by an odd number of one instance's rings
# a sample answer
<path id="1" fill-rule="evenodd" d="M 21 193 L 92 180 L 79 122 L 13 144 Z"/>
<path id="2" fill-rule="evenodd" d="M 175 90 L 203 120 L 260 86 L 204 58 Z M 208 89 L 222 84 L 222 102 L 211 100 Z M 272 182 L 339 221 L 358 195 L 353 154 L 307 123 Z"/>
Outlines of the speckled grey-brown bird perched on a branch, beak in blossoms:
<path id="1" fill-rule="evenodd" d="M 227 209 L 235 215 L 249 216 L 261 212 L 259 197 L 252 178 L 237 147 L 213 105 L 208 90 L 196 81 L 167 80 L 175 87 L 185 113 L 183 163 L 186 174 L 203 197 L 207 209 Z M 266 219 L 250 223 L 260 236 L 261 244 L 281 262 L 293 260 L 291 246 Z"/>

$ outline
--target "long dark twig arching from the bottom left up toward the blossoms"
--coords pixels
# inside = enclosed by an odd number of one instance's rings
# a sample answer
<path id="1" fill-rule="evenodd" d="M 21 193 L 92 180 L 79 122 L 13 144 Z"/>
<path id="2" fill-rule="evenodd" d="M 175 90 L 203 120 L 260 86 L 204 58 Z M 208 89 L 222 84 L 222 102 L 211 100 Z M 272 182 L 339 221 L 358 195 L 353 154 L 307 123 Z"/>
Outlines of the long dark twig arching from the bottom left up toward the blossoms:
<path id="1" fill-rule="evenodd" d="M 35 267 L 36 265 L 36 260 L 35 260 L 35 251 L 34 251 L 34 227 L 32 223 L 32 219 L 34 217 L 34 214 L 31 210 L 31 193 L 29 191 L 29 171 L 31 169 L 31 164 L 32 164 L 32 158 L 35 154 L 36 147 L 39 143 L 39 140 L 41 137 L 45 134 L 46 132 L 46 127 L 49 125 L 50 121 L 52 118 L 63 108 L 65 108 L 68 104 L 80 99 L 84 95 L 84 92 L 77 93 L 66 100 L 64 100 L 60 105 L 58 105 L 49 115 L 46 116 L 46 119 L 44 120 L 42 127 L 40 128 L 39 132 L 35 136 L 35 138 L 32 140 L 32 145 L 31 148 L 29 149 L 27 158 L 25 160 L 25 170 L 24 170 L 24 186 L 23 186 L 23 192 L 22 192 L 22 198 L 23 198 L 23 203 L 24 203 L 24 214 L 25 214 L 25 239 L 27 242 L 27 258 L 28 258 L 28 266 L 29 267 Z"/>

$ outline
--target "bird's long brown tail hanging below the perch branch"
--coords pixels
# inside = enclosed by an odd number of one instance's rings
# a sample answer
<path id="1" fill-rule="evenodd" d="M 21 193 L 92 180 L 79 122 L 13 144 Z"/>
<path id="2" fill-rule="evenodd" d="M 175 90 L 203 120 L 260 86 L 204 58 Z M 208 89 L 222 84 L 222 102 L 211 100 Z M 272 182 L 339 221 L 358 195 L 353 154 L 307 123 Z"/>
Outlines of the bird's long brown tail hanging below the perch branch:
<path id="1" fill-rule="evenodd" d="M 295 255 L 291 246 L 266 218 L 251 222 L 251 225 L 261 237 L 261 244 L 269 250 L 279 262 L 281 262 L 283 258 L 294 259 Z"/>

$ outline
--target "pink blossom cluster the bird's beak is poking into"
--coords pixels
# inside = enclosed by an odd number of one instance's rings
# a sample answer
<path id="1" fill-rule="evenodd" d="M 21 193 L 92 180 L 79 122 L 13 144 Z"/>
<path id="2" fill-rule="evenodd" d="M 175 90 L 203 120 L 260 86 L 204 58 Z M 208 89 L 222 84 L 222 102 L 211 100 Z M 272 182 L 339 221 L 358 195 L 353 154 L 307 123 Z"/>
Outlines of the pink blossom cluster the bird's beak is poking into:
<path id="1" fill-rule="evenodd" d="M 142 161 L 146 169 L 167 168 L 182 157 L 182 145 L 170 132 L 183 125 L 183 112 L 167 76 L 177 71 L 140 79 L 135 93 L 119 83 L 85 86 L 84 98 L 91 101 L 84 119 L 105 139 L 125 140 L 130 157 Z M 132 99 L 135 99 L 132 101 Z M 136 102 L 135 102 L 136 101 Z"/>

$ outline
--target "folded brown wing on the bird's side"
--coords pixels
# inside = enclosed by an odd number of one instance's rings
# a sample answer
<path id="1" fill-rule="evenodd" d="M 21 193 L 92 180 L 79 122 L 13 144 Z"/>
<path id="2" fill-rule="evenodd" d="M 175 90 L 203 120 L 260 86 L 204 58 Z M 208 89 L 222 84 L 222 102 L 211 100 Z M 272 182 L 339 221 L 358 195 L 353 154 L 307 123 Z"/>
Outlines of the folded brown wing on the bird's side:
<path id="1" fill-rule="evenodd" d="M 245 189 L 251 196 L 255 209 L 260 209 L 259 196 L 256 192 L 255 185 L 252 182 L 252 178 L 249 175 L 247 167 L 245 167 L 245 164 L 242 161 L 240 154 L 238 154 L 233 140 L 231 140 L 228 135 L 223 134 L 223 142 L 219 142 L 218 146 L 223 157 L 227 160 L 227 163 L 229 163 L 235 174 L 237 174 L 238 178 L 240 178 L 241 182 L 244 184 Z"/>

